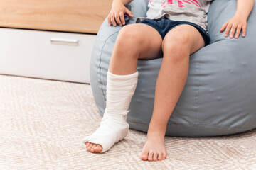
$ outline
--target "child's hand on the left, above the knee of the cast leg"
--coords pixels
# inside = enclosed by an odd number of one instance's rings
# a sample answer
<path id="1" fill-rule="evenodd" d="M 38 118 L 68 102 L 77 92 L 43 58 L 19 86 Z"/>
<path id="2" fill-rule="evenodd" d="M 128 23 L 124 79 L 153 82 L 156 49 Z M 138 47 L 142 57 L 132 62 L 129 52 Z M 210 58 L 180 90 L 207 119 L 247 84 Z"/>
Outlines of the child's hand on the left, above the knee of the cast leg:
<path id="1" fill-rule="evenodd" d="M 134 17 L 132 12 L 129 11 L 129 9 L 127 9 L 123 4 L 114 4 L 107 17 L 109 25 L 111 26 L 110 21 L 112 21 L 113 26 L 117 26 L 117 23 L 119 26 L 125 25 L 124 14 L 128 14 L 132 18 Z"/>

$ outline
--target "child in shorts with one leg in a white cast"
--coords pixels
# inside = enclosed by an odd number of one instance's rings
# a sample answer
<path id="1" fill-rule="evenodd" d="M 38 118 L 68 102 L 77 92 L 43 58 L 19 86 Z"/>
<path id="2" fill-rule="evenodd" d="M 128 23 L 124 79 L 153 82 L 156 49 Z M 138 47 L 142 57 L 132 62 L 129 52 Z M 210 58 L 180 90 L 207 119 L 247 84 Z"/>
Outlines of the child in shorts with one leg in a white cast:
<path id="1" fill-rule="evenodd" d="M 132 0 L 113 0 L 108 23 L 124 25 L 124 5 Z M 82 142 L 90 152 L 105 152 L 127 136 L 129 103 L 137 86 L 137 60 L 163 57 L 156 81 L 154 111 L 142 150 L 142 160 L 166 159 L 166 125 L 188 76 L 189 56 L 206 46 L 211 0 L 150 0 L 146 18 L 124 26 L 117 36 L 107 72 L 107 106 L 98 128 Z M 247 17 L 254 0 L 238 0 L 235 16 L 220 29 L 225 36 L 245 37 Z"/>

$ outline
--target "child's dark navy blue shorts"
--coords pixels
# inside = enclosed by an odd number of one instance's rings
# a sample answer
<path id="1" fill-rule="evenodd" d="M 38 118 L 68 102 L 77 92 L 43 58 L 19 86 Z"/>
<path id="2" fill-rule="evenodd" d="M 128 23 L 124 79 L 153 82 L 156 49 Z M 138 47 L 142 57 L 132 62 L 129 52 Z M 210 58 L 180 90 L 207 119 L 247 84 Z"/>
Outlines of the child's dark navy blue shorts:
<path id="1" fill-rule="evenodd" d="M 161 18 L 161 19 L 144 19 L 140 21 L 139 23 L 144 23 L 146 25 L 149 25 L 153 28 L 155 28 L 159 34 L 161 35 L 161 38 L 164 40 L 165 35 L 171 30 L 172 28 L 179 26 L 181 24 L 188 24 L 191 26 L 194 26 L 199 33 L 201 33 L 203 40 L 205 42 L 205 46 L 210 44 L 210 35 L 208 31 L 201 28 L 201 26 L 198 26 L 195 23 L 191 23 L 188 21 L 173 21 L 169 20 L 168 18 Z"/>

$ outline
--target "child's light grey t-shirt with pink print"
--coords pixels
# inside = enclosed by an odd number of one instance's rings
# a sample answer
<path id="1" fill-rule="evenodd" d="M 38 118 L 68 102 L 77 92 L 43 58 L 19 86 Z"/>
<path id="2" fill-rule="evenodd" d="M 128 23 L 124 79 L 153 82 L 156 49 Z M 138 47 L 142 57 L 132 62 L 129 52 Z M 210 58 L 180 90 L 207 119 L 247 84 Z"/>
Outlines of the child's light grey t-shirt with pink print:
<path id="1" fill-rule="evenodd" d="M 196 23 L 206 30 L 206 14 L 211 1 L 213 0 L 149 0 L 149 10 L 146 12 L 146 18 L 159 19 L 166 17 L 174 21 L 188 21 Z M 144 17 L 139 17 L 136 23 L 144 19 Z"/>

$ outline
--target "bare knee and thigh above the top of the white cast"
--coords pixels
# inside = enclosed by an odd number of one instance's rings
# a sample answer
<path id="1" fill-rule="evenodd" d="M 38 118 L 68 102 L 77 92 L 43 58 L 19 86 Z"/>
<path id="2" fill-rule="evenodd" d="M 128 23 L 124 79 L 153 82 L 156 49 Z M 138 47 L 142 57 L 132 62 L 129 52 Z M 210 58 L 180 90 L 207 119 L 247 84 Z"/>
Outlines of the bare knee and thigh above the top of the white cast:
<path id="1" fill-rule="evenodd" d="M 124 26 L 114 44 L 109 71 L 113 74 L 132 74 L 137 60 L 162 57 L 161 35 L 151 26 L 136 23 Z"/>

